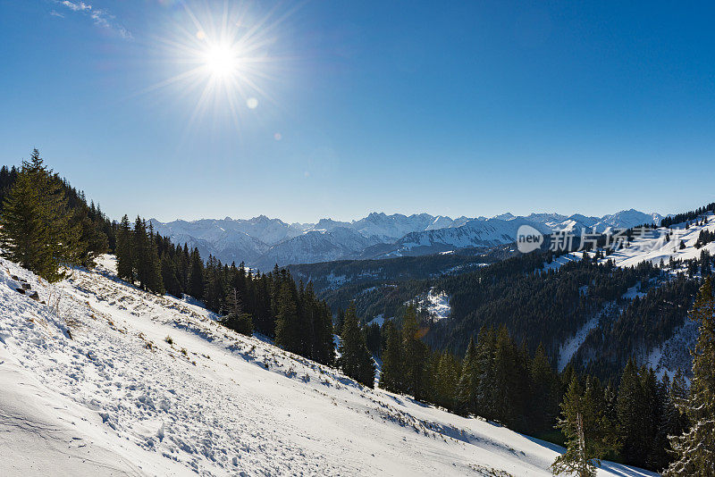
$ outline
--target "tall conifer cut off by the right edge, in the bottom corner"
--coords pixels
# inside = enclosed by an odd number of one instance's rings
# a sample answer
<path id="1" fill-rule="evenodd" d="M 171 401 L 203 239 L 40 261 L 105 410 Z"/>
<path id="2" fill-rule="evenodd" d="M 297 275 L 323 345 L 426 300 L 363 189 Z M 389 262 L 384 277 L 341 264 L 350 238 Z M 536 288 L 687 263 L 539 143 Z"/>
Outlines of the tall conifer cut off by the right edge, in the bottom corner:
<path id="1" fill-rule="evenodd" d="M 693 380 L 690 396 L 680 405 L 690 427 L 671 440 L 677 460 L 665 476 L 715 475 L 715 298 L 708 277 L 693 305 L 691 318 L 700 323 L 693 355 Z"/>

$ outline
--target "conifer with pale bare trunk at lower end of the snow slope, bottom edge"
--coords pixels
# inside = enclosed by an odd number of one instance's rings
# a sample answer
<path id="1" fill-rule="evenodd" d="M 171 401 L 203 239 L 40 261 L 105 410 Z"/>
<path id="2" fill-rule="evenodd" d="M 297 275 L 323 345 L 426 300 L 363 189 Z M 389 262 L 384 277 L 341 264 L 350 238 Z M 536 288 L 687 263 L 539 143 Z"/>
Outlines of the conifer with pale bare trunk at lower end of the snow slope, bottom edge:
<path id="1" fill-rule="evenodd" d="M 596 389 L 584 390 L 576 375 L 572 377 L 557 424 L 566 437 L 567 450 L 551 464 L 551 471 L 556 475 L 595 476 L 599 459 L 617 447 L 611 423 L 593 401 L 595 394 Z"/>

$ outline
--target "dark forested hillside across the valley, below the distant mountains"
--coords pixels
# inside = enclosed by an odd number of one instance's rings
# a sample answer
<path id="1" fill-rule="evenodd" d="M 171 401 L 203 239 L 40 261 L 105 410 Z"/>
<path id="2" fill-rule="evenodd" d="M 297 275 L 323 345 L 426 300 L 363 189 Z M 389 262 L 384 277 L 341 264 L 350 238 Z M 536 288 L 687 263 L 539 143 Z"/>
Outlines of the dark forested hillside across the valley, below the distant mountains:
<path id="1" fill-rule="evenodd" d="M 703 229 L 697 247 L 710 238 Z M 673 247 L 681 246 L 674 242 Z M 425 307 L 418 307 L 425 343 L 433 349 L 461 355 L 483 327 L 506 325 L 531 352 L 543 345 L 559 369 L 573 359 L 576 369 L 609 380 L 618 377 L 631 356 L 644 363 L 654 347 L 684 325 L 699 280 L 711 270 L 706 250 L 660 264 L 645 260 L 624 267 L 616 265 L 617 258 L 601 252 L 584 257 L 537 251 L 470 272 L 350 283 L 324 290 L 321 296 L 333 309 L 354 300 L 364 322 L 376 316 L 399 322 L 408 303 L 443 293 L 449 297 L 449 319 L 433 320 Z M 596 328 L 600 332 L 589 332 Z"/>

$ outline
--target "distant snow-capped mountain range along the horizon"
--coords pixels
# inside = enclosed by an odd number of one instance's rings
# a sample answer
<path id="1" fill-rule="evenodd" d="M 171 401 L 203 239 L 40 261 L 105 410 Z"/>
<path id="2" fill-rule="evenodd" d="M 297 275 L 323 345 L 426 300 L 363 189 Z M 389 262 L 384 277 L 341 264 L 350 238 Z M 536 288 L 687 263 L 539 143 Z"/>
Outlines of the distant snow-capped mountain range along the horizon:
<path id="1" fill-rule="evenodd" d="M 274 264 L 310 264 L 339 259 L 429 255 L 467 247 L 495 247 L 516 240 L 521 225 L 543 233 L 551 230 L 604 231 L 644 223 L 659 224 L 660 213 L 630 209 L 589 217 L 559 213 L 515 216 L 503 213 L 492 218 L 458 217 L 416 213 L 370 213 L 352 222 L 321 219 L 316 223 L 287 223 L 259 215 L 252 219 L 201 219 L 159 222 L 154 230 L 174 243 L 198 247 L 202 256 L 214 255 L 224 263 L 245 262 L 259 268 Z"/>

